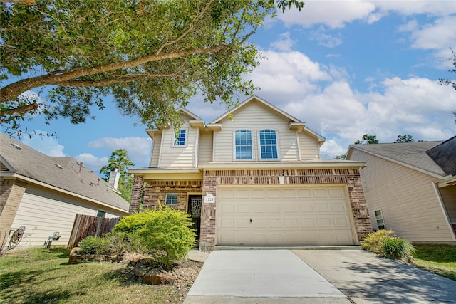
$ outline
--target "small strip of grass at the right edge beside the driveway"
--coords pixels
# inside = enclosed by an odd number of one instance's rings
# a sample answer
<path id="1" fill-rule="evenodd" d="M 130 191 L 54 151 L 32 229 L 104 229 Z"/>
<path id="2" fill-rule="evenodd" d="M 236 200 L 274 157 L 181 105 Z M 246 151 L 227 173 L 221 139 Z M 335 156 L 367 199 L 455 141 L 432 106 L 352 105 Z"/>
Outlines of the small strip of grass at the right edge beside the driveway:
<path id="1" fill-rule="evenodd" d="M 456 246 L 415 244 L 415 266 L 456 281 Z"/>

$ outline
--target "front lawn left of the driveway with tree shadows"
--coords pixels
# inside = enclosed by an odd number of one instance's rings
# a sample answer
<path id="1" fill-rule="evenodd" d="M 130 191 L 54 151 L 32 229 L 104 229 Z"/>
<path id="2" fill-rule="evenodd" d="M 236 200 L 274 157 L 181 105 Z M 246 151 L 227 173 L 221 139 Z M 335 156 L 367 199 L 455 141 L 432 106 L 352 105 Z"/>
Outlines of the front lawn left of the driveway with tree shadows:
<path id="1" fill-rule="evenodd" d="M 63 249 L 0 257 L 0 303 L 182 303 L 171 286 L 136 283 L 118 263 L 69 265 Z"/>

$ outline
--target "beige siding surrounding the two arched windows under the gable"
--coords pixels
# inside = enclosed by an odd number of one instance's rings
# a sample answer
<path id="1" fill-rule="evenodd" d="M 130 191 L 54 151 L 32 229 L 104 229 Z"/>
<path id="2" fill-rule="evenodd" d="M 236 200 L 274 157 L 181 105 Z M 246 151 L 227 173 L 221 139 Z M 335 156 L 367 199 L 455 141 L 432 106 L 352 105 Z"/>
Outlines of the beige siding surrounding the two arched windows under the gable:
<path id="1" fill-rule="evenodd" d="M 296 132 L 289 130 L 289 120 L 279 117 L 276 112 L 266 109 L 261 103 L 252 102 L 234 113 L 234 120 L 222 121 L 222 130 L 214 132 L 214 162 L 233 162 L 234 132 L 249 130 L 252 132 L 252 154 L 254 161 L 259 161 L 259 131 L 276 131 L 278 141 L 278 161 L 297 161 L 298 147 Z"/>

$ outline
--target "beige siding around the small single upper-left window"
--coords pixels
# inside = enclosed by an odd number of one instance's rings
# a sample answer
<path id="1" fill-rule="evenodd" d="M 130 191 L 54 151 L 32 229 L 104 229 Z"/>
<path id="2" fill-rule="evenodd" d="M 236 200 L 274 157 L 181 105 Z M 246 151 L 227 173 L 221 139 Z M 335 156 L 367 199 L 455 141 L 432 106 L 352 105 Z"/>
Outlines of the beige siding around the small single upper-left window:
<path id="1" fill-rule="evenodd" d="M 197 128 L 190 127 L 189 117 L 181 115 L 184 124 L 181 130 L 186 130 L 186 145 L 174 146 L 174 129 L 172 127 L 163 130 L 160 162 L 160 168 L 193 168 L 195 167 L 195 155 L 197 154 Z"/>

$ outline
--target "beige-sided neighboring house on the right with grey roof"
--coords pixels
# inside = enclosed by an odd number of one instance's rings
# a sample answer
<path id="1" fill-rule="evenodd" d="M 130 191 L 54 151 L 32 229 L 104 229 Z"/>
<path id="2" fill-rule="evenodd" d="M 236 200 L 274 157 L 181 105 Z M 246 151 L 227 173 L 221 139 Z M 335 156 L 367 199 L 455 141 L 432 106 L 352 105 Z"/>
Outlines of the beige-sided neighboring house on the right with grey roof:
<path id="1" fill-rule="evenodd" d="M 351 145 L 374 229 L 413 242 L 456 243 L 456 137 L 445 142 Z"/>

